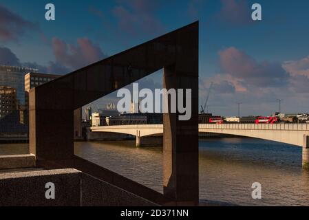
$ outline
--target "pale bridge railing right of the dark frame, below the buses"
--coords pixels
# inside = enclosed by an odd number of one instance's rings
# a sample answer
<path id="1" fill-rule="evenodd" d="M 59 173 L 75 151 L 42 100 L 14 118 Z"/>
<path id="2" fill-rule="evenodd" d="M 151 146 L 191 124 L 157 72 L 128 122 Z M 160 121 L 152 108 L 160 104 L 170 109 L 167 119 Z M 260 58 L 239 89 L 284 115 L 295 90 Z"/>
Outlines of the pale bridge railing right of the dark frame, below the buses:
<path id="1" fill-rule="evenodd" d="M 309 124 L 199 124 L 199 129 L 308 131 Z"/>

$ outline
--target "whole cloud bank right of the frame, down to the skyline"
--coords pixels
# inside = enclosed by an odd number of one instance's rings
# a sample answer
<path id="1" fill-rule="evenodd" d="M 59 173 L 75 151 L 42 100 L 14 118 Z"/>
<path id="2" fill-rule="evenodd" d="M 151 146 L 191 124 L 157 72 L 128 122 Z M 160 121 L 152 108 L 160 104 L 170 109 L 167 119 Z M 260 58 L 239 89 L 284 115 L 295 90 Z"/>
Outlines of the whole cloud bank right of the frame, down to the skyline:
<path id="1" fill-rule="evenodd" d="M 219 53 L 222 72 L 200 79 L 200 104 L 204 104 L 213 82 L 209 111 L 236 115 L 236 102 L 243 102 L 242 115 L 270 115 L 278 111 L 277 99 L 284 99 L 283 112 L 307 112 L 309 98 L 309 56 L 299 61 L 257 62 L 255 58 L 229 47 Z"/>

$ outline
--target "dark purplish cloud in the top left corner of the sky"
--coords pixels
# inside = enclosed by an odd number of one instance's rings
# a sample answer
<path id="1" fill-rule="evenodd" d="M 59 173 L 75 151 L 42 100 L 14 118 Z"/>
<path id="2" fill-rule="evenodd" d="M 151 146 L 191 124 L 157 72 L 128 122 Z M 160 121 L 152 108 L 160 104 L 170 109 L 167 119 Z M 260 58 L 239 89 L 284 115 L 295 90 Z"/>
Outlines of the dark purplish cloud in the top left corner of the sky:
<path id="1" fill-rule="evenodd" d="M 38 29 L 36 24 L 0 5 L 0 41 L 17 41 L 26 31 Z"/>

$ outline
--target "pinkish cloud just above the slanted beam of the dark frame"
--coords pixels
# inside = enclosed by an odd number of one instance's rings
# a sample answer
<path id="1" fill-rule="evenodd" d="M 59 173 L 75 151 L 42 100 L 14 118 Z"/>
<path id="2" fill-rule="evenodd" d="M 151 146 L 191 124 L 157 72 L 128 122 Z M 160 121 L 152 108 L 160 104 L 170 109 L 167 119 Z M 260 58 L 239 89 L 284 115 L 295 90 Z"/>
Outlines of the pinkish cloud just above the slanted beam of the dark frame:
<path id="1" fill-rule="evenodd" d="M 56 63 L 69 69 L 78 69 L 107 57 L 98 45 L 94 45 L 87 38 L 77 39 L 77 45 L 67 44 L 61 39 L 53 38 L 52 50 Z"/>

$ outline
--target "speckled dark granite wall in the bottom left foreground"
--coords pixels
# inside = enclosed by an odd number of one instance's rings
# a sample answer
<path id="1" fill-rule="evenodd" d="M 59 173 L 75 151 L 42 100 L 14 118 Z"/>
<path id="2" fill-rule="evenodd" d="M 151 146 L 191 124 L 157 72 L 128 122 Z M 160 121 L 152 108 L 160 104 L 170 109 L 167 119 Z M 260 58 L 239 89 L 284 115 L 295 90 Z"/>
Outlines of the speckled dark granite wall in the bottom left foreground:
<path id="1" fill-rule="evenodd" d="M 55 199 L 46 199 L 47 183 Z M 0 174 L 0 206 L 156 206 L 75 169 Z"/>

